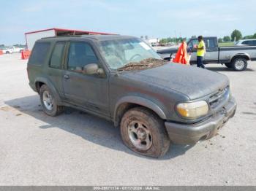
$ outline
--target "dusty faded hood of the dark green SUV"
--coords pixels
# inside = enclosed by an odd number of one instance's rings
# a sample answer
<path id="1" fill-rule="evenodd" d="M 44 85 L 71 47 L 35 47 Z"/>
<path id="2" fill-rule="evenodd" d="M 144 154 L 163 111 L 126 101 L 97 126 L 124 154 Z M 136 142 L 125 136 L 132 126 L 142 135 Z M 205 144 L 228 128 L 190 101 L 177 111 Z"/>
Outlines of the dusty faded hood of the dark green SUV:
<path id="1" fill-rule="evenodd" d="M 127 71 L 123 74 L 131 79 L 183 93 L 191 100 L 215 93 L 229 85 L 229 79 L 223 74 L 179 63 L 168 63 L 143 71 Z"/>

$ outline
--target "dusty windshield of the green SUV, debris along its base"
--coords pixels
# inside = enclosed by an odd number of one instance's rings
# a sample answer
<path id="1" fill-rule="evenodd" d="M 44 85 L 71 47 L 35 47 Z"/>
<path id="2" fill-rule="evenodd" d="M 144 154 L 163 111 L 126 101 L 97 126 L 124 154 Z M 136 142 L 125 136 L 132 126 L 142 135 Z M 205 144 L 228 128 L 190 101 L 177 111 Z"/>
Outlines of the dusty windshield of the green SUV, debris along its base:
<path id="1" fill-rule="evenodd" d="M 152 59 L 162 61 L 157 52 L 137 38 L 102 41 L 99 42 L 99 47 L 110 69 L 124 70 L 129 64 L 135 66 L 136 63 L 141 66 L 145 61 L 151 61 Z M 146 64 L 146 68 L 148 68 L 148 64 Z M 132 67 L 129 67 L 129 70 L 131 69 Z M 143 67 L 140 67 L 140 69 L 143 69 Z"/>

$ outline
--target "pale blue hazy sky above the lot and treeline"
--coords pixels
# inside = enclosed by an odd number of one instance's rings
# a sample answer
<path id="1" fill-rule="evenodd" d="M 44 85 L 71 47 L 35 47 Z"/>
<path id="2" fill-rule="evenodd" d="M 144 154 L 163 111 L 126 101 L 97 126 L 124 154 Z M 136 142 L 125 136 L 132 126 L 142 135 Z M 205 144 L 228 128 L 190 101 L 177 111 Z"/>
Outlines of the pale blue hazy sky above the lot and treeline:
<path id="1" fill-rule="evenodd" d="M 254 0 L 1 1 L 0 44 L 25 43 L 24 33 L 70 28 L 133 36 L 225 36 L 256 33 Z"/>

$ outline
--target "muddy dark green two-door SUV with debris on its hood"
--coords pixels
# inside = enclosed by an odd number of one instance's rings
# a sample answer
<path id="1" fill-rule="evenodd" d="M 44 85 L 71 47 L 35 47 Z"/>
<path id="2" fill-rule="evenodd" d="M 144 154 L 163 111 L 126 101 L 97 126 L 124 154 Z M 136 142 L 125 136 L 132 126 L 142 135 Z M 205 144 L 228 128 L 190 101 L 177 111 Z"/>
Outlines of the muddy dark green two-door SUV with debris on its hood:
<path id="1" fill-rule="evenodd" d="M 213 71 L 168 63 L 132 36 L 39 39 L 29 85 L 56 116 L 71 106 L 113 121 L 124 144 L 160 157 L 170 141 L 209 139 L 236 112 L 229 80 Z"/>

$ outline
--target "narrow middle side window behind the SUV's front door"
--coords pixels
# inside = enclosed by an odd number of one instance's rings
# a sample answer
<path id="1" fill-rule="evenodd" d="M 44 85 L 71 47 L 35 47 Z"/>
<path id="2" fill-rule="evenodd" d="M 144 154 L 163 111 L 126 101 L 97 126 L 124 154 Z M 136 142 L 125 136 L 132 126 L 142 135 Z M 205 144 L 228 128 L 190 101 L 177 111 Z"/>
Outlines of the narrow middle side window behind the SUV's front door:
<path id="1" fill-rule="evenodd" d="M 62 54 L 64 51 L 64 42 L 57 42 L 53 54 L 50 58 L 50 67 L 54 69 L 61 69 Z"/>

